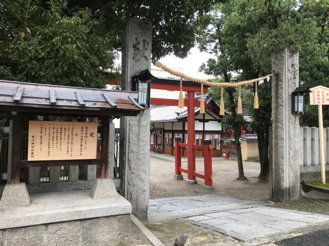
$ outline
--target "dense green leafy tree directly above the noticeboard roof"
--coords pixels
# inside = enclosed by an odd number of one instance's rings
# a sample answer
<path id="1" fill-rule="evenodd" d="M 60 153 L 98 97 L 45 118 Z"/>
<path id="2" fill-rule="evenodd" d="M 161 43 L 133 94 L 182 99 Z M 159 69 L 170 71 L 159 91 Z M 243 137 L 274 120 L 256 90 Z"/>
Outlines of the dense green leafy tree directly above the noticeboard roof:
<path id="1" fill-rule="evenodd" d="M 102 71 L 112 69 L 111 37 L 89 9 L 67 12 L 65 1 L 49 8 L 36 0 L 2 5 L 1 78 L 78 87 L 104 88 Z"/>

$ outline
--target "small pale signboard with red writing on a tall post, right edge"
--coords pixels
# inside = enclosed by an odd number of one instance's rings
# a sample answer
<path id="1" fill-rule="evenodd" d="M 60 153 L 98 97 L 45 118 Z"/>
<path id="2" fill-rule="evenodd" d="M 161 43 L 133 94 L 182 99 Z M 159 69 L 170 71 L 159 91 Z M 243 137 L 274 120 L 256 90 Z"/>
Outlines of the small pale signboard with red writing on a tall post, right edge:
<path id="1" fill-rule="evenodd" d="M 325 183 L 325 163 L 324 163 L 324 139 L 323 139 L 323 118 L 322 105 L 329 104 L 329 88 L 317 86 L 309 89 L 310 105 L 318 105 L 319 115 L 319 135 L 320 135 L 320 161 L 321 161 L 321 181 Z"/>

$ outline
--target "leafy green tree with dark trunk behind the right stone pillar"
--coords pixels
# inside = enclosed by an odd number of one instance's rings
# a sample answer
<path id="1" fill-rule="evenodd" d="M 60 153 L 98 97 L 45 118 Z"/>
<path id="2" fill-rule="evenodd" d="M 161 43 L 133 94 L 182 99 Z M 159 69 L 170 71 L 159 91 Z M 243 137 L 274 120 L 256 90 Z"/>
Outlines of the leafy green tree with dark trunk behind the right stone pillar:
<path id="1" fill-rule="evenodd" d="M 200 49 L 217 58 L 201 69 L 224 77 L 226 71 L 229 78 L 239 75 L 240 80 L 256 78 L 271 73 L 272 52 L 291 48 L 299 51 L 300 84 L 329 86 L 328 6 L 328 0 L 232 0 L 219 4 L 204 18 L 207 28 L 199 38 Z M 259 142 L 262 169 L 263 162 L 265 166 L 268 163 L 267 154 L 262 153 L 267 153 L 271 124 L 271 89 L 267 84 L 259 86 L 260 109 L 250 107 L 252 126 L 263 139 Z M 307 107 L 304 124 L 316 124 L 314 111 L 314 107 Z M 261 179 L 266 180 L 266 169 L 261 171 Z"/>

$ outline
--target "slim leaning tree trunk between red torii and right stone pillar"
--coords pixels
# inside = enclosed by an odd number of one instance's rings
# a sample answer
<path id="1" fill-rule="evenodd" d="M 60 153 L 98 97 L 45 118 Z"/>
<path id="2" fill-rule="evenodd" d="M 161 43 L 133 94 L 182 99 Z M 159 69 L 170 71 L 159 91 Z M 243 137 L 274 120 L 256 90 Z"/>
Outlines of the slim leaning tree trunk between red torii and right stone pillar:
<path id="1" fill-rule="evenodd" d="M 241 154 L 241 145 L 240 145 L 240 136 L 239 136 L 239 128 L 240 125 L 236 122 L 236 111 L 234 105 L 234 97 L 233 97 L 233 88 L 227 88 L 230 105 L 231 105 L 231 113 L 234 118 L 233 130 L 234 130 L 234 140 L 236 147 L 236 155 L 237 155 L 237 169 L 239 170 L 239 177 L 236 180 L 248 180 L 243 172 L 243 163 L 242 163 L 242 154 Z"/>

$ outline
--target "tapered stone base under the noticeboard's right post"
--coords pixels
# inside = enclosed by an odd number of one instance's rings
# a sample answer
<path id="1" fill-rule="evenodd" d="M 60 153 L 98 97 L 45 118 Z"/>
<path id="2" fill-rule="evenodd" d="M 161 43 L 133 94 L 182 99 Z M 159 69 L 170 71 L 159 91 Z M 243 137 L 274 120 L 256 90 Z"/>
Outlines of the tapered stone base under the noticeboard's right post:
<path id="1" fill-rule="evenodd" d="M 96 179 L 90 195 L 93 199 L 117 199 L 119 197 L 113 180 L 109 178 Z"/>

